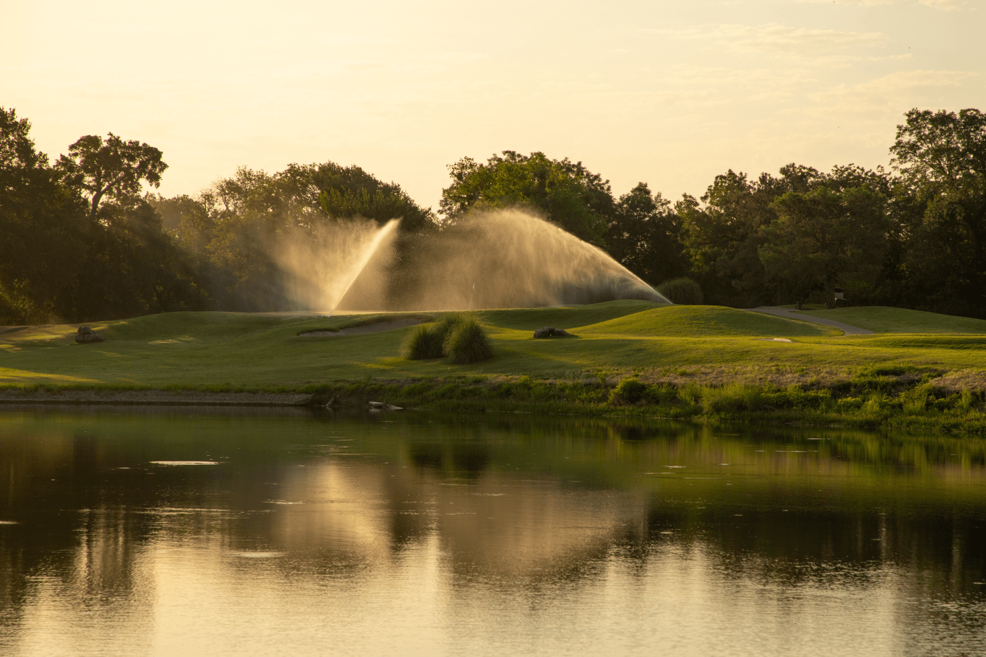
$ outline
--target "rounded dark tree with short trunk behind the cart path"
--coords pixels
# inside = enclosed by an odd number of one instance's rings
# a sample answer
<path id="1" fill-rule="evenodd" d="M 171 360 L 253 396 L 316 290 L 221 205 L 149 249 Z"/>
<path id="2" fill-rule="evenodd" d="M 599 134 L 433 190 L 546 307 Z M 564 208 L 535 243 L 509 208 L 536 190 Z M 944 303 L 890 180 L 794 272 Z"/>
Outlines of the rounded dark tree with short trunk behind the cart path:
<path id="1" fill-rule="evenodd" d="M 850 278 L 873 282 L 886 248 L 885 197 L 868 186 L 788 192 L 773 203 L 778 219 L 762 226 L 757 254 L 768 277 L 802 300 L 822 291 L 835 307 L 833 288 Z"/>

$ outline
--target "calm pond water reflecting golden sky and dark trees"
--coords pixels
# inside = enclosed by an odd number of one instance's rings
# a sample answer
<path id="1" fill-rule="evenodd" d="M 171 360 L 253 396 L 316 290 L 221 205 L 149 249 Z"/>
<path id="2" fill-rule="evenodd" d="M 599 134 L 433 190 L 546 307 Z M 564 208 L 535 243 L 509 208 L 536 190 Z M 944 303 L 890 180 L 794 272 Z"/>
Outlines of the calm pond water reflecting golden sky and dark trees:
<path id="1" fill-rule="evenodd" d="M 848 430 L 7 408 L 0 653 L 984 654 L 984 463 Z"/>

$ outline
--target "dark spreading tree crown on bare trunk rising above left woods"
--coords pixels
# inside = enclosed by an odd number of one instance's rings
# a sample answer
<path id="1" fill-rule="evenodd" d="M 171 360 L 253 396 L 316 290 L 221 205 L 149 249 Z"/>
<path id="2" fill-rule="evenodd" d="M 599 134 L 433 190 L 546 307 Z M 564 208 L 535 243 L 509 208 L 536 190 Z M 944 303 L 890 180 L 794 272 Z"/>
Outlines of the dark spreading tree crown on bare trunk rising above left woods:
<path id="1" fill-rule="evenodd" d="M 140 196 L 142 182 L 158 187 L 161 174 L 168 168 L 161 158 L 161 151 L 153 146 L 124 141 L 110 132 L 106 141 L 98 135 L 80 137 L 56 166 L 68 184 L 89 195 L 89 216 L 96 219 L 104 197 L 125 203 Z"/>

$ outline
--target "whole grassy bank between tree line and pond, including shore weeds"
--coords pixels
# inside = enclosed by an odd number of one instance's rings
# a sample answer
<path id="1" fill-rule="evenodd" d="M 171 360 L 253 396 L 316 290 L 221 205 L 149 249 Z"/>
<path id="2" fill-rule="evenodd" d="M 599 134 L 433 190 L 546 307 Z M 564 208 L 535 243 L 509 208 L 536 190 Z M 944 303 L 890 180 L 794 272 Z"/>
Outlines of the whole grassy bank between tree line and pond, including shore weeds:
<path id="1" fill-rule="evenodd" d="M 986 321 L 887 307 L 817 314 L 874 333 L 844 335 L 811 323 L 810 311 L 782 317 L 639 300 L 465 316 L 177 312 L 92 323 L 106 341 L 87 345 L 72 342 L 78 325 L 16 327 L 0 333 L 0 403 L 374 401 L 422 410 L 986 430 Z M 533 339 L 542 327 L 571 335 Z M 468 343 L 468 358 L 461 356 L 466 339 L 478 341 Z"/>

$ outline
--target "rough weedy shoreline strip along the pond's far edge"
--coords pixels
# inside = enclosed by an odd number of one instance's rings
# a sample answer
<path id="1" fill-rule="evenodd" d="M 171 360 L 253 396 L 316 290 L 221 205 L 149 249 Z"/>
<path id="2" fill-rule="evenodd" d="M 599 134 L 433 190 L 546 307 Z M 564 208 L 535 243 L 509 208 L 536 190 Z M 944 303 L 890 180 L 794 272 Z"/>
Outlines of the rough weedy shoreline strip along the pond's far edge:
<path id="1" fill-rule="evenodd" d="M 896 373 L 896 372 L 895 372 Z M 37 406 L 367 408 L 513 412 L 801 427 L 986 433 L 986 393 L 922 381 L 913 372 L 868 372 L 827 385 L 643 383 L 599 377 L 545 380 L 486 376 L 335 381 L 292 388 L 215 386 L 0 386 L 0 409 Z M 633 383 L 628 384 L 628 381 Z M 203 386 L 204 387 L 204 386 Z M 220 389 L 216 389 L 216 388 Z"/>

